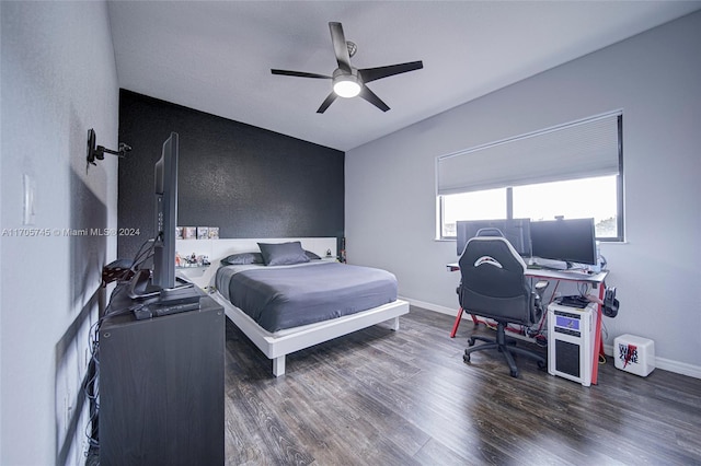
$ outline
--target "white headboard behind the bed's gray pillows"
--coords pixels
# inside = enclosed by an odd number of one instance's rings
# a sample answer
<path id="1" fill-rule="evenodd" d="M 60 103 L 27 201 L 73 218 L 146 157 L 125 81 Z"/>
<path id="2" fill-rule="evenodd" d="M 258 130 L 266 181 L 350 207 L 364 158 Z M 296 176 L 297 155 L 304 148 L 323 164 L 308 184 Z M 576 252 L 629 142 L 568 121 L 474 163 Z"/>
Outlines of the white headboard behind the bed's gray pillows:
<path id="1" fill-rule="evenodd" d="M 320 257 L 325 257 L 331 252 L 332 257 L 337 256 L 336 237 L 281 237 L 281 238 L 222 238 L 222 240 L 177 240 L 175 251 L 182 257 L 207 256 L 211 266 L 206 269 L 179 269 L 186 278 L 198 287 L 207 287 L 214 281 L 219 268 L 219 261 L 231 254 L 257 253 L 258 243 L 286 243 L 299 241 L 302 248 L 311 251 Z"/>

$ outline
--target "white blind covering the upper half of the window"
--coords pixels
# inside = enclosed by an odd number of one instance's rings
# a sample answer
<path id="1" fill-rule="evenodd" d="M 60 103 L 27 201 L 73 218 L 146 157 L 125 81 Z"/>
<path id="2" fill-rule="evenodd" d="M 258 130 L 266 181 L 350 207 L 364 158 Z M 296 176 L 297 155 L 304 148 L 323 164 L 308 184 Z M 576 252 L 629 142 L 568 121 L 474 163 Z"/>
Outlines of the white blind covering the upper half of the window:
<path id="1" fill-rule="evenodd" d="M 619 173 L 620 112 L 436 160 L 439 196 Z"/>

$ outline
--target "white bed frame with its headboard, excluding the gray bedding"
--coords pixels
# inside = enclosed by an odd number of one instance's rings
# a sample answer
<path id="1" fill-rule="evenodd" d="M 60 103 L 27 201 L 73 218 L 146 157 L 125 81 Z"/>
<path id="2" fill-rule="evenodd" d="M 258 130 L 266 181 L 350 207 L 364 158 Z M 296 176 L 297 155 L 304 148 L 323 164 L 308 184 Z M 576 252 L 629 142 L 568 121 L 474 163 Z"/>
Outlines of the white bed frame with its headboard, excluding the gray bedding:
<path id="1" fill-rule="evenodd" d="M 214 284 L 216 270 L 219 268 L 219 261 L 237 253 L 250 253 L 260 251 L 257 243 L 284 243 L 288 241 L 300 241 L 302 247 L 307 251 L 324 257 L 331 252 L 333 257 L 336 256 L 336 238 L 335 237 L 287 237 L 287 238 L 243 238 L 243 240 L 179 240 L 179 253 L 188 255 L 206 255 L 211 261 L 211 266 L 198 277 L 187 277 L 200 288 L 211 287 Z M 273 360 L 273 374 L 277 377 L 285 373 L 285 356 L 299 351 L 304 348 L 329 341 L 333 338 L 350 334 L 361 328 L 391 321 L 392 329 L 399 329 L 399 317 L 409 313 L 409 303 L 406 301 L 397 300 L 392 303 L 363 311 L 357 314 L 347 315 L 335 318 L 333 321 L 321 322 L 318 324 L 306 325 L 288 330 L 281 330 L 271 334 L 260 327 L 255 321 L 249 317 L 243 311 L 231 304 L 219 292 L 210 293 L 219 304 L 225 308 L 227 316 L 235 324 L 237 327 L 245 334 L 261 351 Z"/>

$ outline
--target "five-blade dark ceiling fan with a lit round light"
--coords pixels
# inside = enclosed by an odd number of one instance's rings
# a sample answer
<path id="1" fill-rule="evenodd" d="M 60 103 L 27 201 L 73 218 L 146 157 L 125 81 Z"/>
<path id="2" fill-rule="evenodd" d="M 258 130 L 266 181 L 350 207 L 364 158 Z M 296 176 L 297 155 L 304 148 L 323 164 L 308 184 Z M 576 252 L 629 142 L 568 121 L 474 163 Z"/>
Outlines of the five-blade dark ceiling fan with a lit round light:
<path id="1" fill-rule="evenodd" d="M 309 73 L 304 71 L 271 70 L 273 74 L 332 80 L 333 91 L 331 91 L 331 94 L 329 94 L 317 110 L 319 114 L 323 114 L 336 97 L 355 97 L 356 95 L 365 98 L 382 112 L 387 112 L 390 107 L 365 84 L 378 79 L 424 68 L 424 63 L 420 60 L 390 65 L 387 67 L 357 69 L 350 66 L 350 57 L 355 55 L 357 46 L 354 43 L 346 40 L 341 23 L 331 22 L 329 23 L 329 28 L 331 30 L 333 50 L 336 55 L 336 61 L 338 62 L 338 68 L 334 70 L 332 75 Z"/>

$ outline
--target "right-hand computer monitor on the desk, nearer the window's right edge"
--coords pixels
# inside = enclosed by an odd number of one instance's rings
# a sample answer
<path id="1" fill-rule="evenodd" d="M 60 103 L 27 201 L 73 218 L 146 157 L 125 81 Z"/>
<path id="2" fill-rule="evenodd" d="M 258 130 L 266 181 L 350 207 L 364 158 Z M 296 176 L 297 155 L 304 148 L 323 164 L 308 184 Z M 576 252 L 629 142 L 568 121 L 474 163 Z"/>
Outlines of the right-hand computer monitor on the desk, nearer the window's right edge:
<path id="1" fill-rule="evenodd" d="M 594 219 L 559 219 L 530 222 L 533 257 L 597 265 Z"/>

